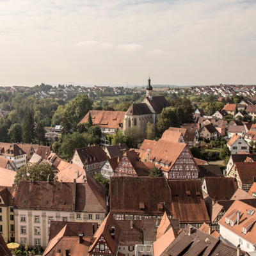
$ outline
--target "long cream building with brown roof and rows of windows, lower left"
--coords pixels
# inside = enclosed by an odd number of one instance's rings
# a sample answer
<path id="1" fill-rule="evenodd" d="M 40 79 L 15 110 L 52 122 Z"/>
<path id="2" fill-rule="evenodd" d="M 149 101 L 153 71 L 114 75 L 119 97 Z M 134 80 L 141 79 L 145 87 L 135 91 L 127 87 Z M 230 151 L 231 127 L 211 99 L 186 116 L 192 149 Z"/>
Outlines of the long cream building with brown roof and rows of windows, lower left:
<path id="1" fill-rule="evenodd" d="M 44 182 L 20 180 L 14 203 L 15 243 L 42 246 L 49 240 L 52 220 L 104 221 L 106 193 L 97 182 Z"/>

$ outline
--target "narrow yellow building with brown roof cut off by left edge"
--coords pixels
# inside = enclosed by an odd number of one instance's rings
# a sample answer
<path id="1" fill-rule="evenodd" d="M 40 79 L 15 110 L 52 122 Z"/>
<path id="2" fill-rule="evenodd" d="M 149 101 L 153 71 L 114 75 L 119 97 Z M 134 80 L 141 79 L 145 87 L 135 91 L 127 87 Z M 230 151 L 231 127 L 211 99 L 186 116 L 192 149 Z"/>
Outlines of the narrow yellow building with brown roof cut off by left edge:
<path id="1" fill-rule="evenodd" d="M 0 232 L 5 243 L 14 242 L 13 202 L 16 191 L 16 186 L 0 186 Z"/>

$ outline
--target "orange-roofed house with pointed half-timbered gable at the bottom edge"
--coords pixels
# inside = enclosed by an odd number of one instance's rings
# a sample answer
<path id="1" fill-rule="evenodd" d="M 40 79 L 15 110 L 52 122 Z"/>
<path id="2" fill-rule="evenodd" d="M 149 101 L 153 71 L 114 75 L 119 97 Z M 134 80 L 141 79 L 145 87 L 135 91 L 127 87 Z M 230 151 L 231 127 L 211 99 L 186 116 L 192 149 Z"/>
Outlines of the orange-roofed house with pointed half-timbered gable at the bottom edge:
<path id="1" fill-rule="evenodd" d="M 118 255 L 122 230 L 111 214 L 108 214 L 94 234 L 92 234 L 92 226 L 89 227 L 91 232 L 88 232 L 86 228 L 88 228 L 87 225 L 84 227 L 84 223 L 81 223 L 79 234 L 77 234 L 77 228 L 74 228 L 72 223 L 67 223 L 49 241 L 44 256 L 55 256 L 59 253 L 70 256 L 100 256 L 102 253 L 109 256 Z M 70 236 L 72 236 L 72 239 L 70 239 Z"/>

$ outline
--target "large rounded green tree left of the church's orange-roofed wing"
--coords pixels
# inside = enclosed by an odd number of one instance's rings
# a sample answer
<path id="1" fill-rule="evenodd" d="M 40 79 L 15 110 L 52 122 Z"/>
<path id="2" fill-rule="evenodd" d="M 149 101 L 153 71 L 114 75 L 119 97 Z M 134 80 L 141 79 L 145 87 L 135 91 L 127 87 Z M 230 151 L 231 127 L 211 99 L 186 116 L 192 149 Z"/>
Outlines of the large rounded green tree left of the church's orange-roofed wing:
<path id="1" fill-rule="evenodd" d="M 93 100 L 91 100 L 87 94 L 78 95 L 72 100 L 65 108 L 65 113 L 68 113 L 68 118 L 72 127 L 82 120 L 82 118 L 92 110 Z"/>

